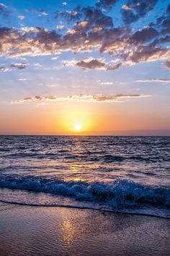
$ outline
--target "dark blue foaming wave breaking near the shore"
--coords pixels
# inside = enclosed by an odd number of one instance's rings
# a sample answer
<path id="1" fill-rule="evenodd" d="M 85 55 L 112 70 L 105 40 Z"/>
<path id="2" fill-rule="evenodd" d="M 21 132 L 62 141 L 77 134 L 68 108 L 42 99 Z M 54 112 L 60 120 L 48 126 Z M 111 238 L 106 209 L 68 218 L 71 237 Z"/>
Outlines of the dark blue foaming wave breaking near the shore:
<path id="1" fill-rule="evenodd" d="M 153 206 L 170 208 L 170 188 L 135 183 L 127 179 L 114 182 L 75 182 L 40 176 L 0 176 L 0 187 L 44 192 L 73 200 L 98 202 L 115 209 Z"/>

